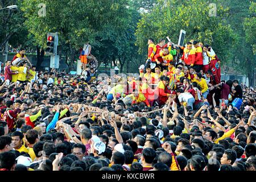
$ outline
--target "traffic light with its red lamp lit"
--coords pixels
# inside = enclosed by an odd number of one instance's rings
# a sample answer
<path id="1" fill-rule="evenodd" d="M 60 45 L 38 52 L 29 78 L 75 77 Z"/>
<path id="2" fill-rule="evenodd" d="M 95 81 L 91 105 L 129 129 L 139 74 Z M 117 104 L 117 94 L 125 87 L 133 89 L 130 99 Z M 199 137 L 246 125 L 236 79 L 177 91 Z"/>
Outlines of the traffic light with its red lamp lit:
<path id="1" fill-rule="evenodd" d="M 46 43 L 46 54 L 47 55 L 56 55 L 57 46 L 58 46 L 58 34 L 57 33 L 48 33 L 47 34 L 47 43 Z"/>

